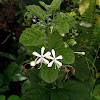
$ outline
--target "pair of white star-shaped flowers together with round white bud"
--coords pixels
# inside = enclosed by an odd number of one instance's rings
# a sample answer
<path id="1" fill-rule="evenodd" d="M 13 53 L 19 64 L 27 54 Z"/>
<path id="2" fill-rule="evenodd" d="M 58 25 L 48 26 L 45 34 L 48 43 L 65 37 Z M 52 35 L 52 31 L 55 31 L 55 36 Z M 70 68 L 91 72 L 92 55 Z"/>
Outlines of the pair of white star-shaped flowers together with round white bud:
<path id="1" fill-rule="evenodd" d="M 37 58 L 35 59 L 35 61 L 30 62 L 30 65 L 35 66 L 36 64 L 40 63 L 41 64 L 40 68 L 41 68 L 42 63 L 47 64 L 48 67 L 51 67 L 54 63 L 55 69 L 56 69 L 56 66 L 59 69 L 62 66 L 62 63 L 60 61 L 58 61 L 58 59 L 62 59 L 62 55 L 59 55 L 58 57 L 56 57 L 54 49 L 52 49 L 51 52 L 48 51 L 44 54 L 44 50 L 45 50 L 45 48 L 42 47 L 41 48 L 41 55 L 39 53 L 35 52 L 35 51 L 32 53 L 34 56 L 37 56 Z M 50 56 L 51 53 L 52 53 L 52 56 Z M 51 59 L 52 61 L 49 63 L 49 61 L 46 58 Z"/>

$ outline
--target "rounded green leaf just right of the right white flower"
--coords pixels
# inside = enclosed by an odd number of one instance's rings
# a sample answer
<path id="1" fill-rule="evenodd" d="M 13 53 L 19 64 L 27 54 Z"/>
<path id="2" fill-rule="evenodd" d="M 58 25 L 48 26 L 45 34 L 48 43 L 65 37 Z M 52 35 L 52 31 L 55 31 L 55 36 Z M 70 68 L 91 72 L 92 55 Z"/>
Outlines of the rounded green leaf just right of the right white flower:
<path id="1" fill-rule="evenodd" d="M 63 63 L 65 64 L 74 63 L 75 56 L 72 49 L 64 47 L 56 48 L 56 54 L 63 56 L 63 59 L 61 60 Z"/>

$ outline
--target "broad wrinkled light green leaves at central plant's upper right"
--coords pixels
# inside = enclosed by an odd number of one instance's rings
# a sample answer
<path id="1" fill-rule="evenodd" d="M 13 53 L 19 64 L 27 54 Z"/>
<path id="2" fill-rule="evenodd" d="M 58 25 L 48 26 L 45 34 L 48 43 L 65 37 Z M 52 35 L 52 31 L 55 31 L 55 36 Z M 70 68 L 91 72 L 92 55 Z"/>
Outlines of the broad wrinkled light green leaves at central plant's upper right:
<path id="1" fill-rule="evenodd" d="M 53 22 L 54 25 L 58 24 L 58 27 L 56 27 L 60 30 L 61 33 L 68 33 L 69 29 L 72 28 L 72 26 L 75 24 L 75 19 L 68 13 L 60 12 L 57 14 L 57 17 Z"/>

